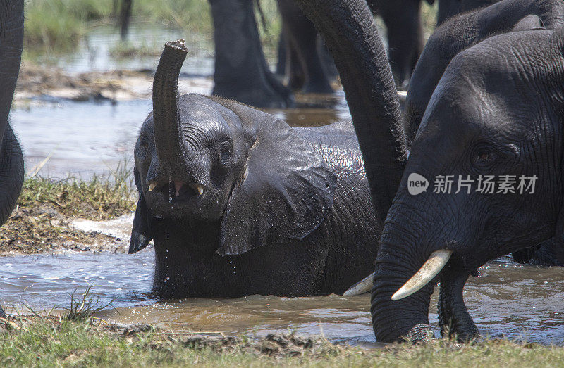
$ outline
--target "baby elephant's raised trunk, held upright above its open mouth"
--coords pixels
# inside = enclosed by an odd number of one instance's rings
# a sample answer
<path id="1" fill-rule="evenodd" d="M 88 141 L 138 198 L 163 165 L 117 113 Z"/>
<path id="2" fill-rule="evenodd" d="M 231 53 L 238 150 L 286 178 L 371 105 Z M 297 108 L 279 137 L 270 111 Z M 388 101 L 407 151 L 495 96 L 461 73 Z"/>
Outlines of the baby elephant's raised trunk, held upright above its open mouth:
<path id="1" fill-rule="evenodd" d="M 161 168 L 169 177 L 171 165 L 185 162 L 178 110 L 178 76 L 188 49 L 184 40 L 166 42 L 153 82 L 154 139 Z"/>

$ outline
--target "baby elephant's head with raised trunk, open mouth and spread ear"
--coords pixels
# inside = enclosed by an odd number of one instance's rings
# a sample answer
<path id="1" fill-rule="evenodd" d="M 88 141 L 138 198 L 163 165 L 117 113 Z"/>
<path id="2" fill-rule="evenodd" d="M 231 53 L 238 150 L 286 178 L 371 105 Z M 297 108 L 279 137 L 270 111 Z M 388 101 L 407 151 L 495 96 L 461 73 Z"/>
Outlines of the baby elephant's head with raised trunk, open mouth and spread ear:
<path id="1" fill-rule="evenodd" d="M 135 146 L 140 199 L 130 253 L 147 245 L 159 219 L 219 224 L 221 255 L 307 236 L 333 205 L 333 172 L 272 115 L 178 96 L 186 52 L 183 41 L 168 42 L 154 77 L 154 109 Z"/>

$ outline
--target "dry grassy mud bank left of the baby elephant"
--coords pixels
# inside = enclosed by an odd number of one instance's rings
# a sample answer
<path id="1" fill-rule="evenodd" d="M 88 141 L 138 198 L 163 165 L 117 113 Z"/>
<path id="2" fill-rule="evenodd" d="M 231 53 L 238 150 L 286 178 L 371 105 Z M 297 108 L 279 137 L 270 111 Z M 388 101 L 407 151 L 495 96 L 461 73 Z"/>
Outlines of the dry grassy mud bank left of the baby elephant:
<path id="1" fill-rule="evenodd" d="M 133 212 L 128 172 L 120 177 L 52 181 L 27 179 L 16 209 L 0 228 L 0 255 L 62 250 L 124 253 L 128 238 L 76 226 L 77 218 L 110 220 Z"/>

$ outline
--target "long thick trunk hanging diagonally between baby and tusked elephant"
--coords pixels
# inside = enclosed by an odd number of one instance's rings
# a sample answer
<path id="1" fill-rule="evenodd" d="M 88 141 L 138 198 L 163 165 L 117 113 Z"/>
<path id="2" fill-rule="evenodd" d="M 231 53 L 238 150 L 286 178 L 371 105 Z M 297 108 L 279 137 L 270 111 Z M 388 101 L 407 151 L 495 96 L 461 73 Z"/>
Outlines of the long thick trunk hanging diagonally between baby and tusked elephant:
<path id="1" fill-rule="evenodd" d="M 324 37 L 341 75 L 364 167 L 384 221 L 400 183 L 406 141 L 391 68 L 363 0 L 298 0 Z"/>

